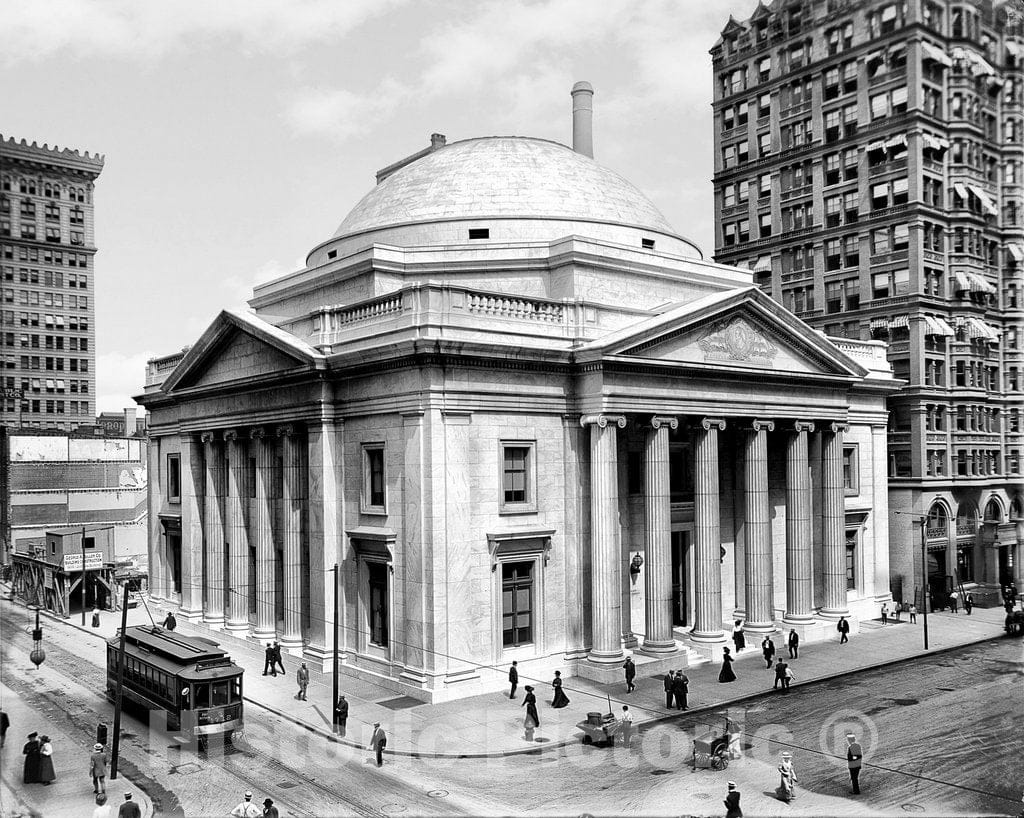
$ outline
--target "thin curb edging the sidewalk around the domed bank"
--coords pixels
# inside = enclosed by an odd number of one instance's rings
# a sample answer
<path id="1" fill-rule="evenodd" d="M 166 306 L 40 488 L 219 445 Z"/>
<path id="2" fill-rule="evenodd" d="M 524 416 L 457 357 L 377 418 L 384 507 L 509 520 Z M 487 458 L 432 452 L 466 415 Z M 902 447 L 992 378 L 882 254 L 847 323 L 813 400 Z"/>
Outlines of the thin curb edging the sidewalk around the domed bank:
<path id="1" fill-rule="evenodd" d="M 84 631 L 85 633 L 91 634 L 92 636 L 95 636 L 98 639 L 103 639 L 103 636 L 101 634 L 97 634 L 97 633 L 95 633 L 93 631 L 90 631 L 88 628 L 83 628 L 82 626 L 80 626 L 80 625 L 78 625 L 76 622 L 72 622 L 72 621 L 69 621 L 68 619 L 63 619 L 61 617 L 58 617 L 52 611 L 46 611 L 46 610 L 44 610 L 44 611 L 41 611 L 41 613 L 43 613 L 43 615 L 48 616 L 49 618 L 53 619 L 54 621 L 56 621 L 58 623 L 70 626 L 70 627 L 75 628 L 75 629 L 77 629 L 79 631 Z M 979 645 L 979 644 L 982 644 L 984 642 L 993 642 L 993 641 L 995 641 L 997 639 L 1004 639 L 1004 638 L 1006 638 L 1006 634 L 1001 634 L 1000 633 L 1000 634 L 997 634 L 997 635 L 994 635 L 994 636 L 986 636 L 986 637 L 981 637 L 980 639 L 974 639 L 974 640 L 971 640 L 970 642 L 963 642 L 963 643 L 959 643 L 959 644 L 956 644 L 956 645 L 948 645 L 948 646 L 942 647 L 942 648 L 931 649 L 931 650 L 928 650 L 927 652 L 926 651 L 919 651 L 916 653 L 911 653 L 911 654 L 906 655 L 906 656 L 900 656 L 900 657 L 891 658 L 891 659 L 884 659 L 882 661 L 873 662 L 871 664 L 865 664 L 865 665 L 862 665 L 860 668 L 856 668 L 854 670 L 841 671 L 839 673 L 826 674 L 824 676 L 819 676 L 819 677 L 816 677 L 814 679 L 808 679 L 806 681 L 802 681 L 802 682 L 799 682 L 799 683 L 793 685 L 793 687 L 804 687 L 806 685 L 817 684 L 818 682 L 826 682 L 826 681 L 830 681 L 830 680 L 834 680 L 834 679 L 842 679 L 844 677 L 854 676 L 856 674 L 864 673 L 866 671 L 874 671 L 874 670 L 878 670 L 880 668 L 888 668 L 888 666 L 893 665 L 893 664 L 899 664 L 901 662 L 910 661 L 912 659 L 921 658 L 922 656 L 933 656 L 933 655 L 938 655 L 938 654 L 941 654 L 941 653 L 947 653 L 947 652 L 952 651 L 952 650 L 959 650 L 962 648 L 970 647 L 971 645 Z M 718 701 L 718 702 L 716 702 L 714 704 L 705 704 L 705 705 L 701 705 L 701 706 L 698 706 L 698 707 L 690 707 L 689 709 L 686 711 L 685 715 L 682 714 L 682 713 L 680 713 L 680 714 L 671 714 L 669 716 L 659 716 L 659 717 L 655 717 L 655 718 L 652 718 L 652 719 L 647 719 L 646 721 L 637 722 L 634 725 L 634 729 L 636 729 L 637 732 L 639 733 L 641 726 L 663 724 L 665 722 L 672 722 L 672 721 L 678 721 L 678 720 L 690 718 L 690 717 L 692 717 L 692 716 L 694 716 L 696 714 L 712 713 L 712 712 L 715 712 L 715 711 L 722 709 L 723 707 L 728 707 L 728 706 L 732 706 L 732 705 L 735 705 L 735 704 L 739 704 L 739 703 L 744 702 L 744 701 L 751 701 L 753 699 L 758 699 L 758 698 L 761 698 L 763 696 L 770 695 L 771 693 L 772 693 L 771 690 L 764 690 L 764 691 L 759 691 L 757 693 L 748 693 L 745 695 L 736 696 L 734 698 L 724 699 L 724 700 Z M 291 722 L 295 726 L 301 727 L 302 729 L 304 729 L 304 730 L 312 733 L 313 735 L 318 735 L 322 738 L 325 738 L 328 741 L 331 741 L 331 742 L 333 742 L 335 744 L 342 744 L 343 746 L 352 747 L 353 749 L 367 749 L 360 743 L 355 743 L 354 741 L 348 741 L 348 740 L 345 740 L 345 739 L 338 738 L 338 736 L 334 735 L 334 733 L 330 733 L 327 730 L 324 730 L 323 728 L 317 727 L 316 725 L 309 724 L 308 722 L 305 722 L 305 721 L 303 721 L 301 719 L 298 719 L 297 717 L 292 716 L 291 714 L 285 713 L 284 711 L 279 709 L 278 707 L 274 707 L 274 706 L 272 706 L 270 704 L 267 704 L 267 703 L 262 702 L 262 701 L 258 701 L 257 699 L 249 698 L 248 696 L 243 696 L 242 698 L 243 698 L 244 701 L 246 701 L 246 702 L 248 702 L 248 703 L 250 703 L 250 704 L 252 704 L 254 706 L 260 707 L 260 708 L 266 711 L 267 713 L 271 713 L 274 716 L 276 716 L 278 718 L 284 719 L 285 721 L 288 721 L 288 722 Z M 498 750 L 498 751 L 495 751 L 495 752 L 420 752 L 418 750 L 402 750 L 402 749 L 392 749 L 390 747 L 386 747 L 384 749 L 384 755 L 386 755 L 386 756 L 398 756 L 398 757 L 411 758 L 411 759 L 450 759 L 450 760 L 454 760 L 454 759 L 502 759 L 502 758 L 509 758 L 509 757 L 513 757 L 513 756 L 540 756 L 540 755 L 542 755 L 544 752 L 550 752 L 551 750 L 560 749 L 561 747 L 568 746 L 569 744 L 578 743 L 579 740 L 580 740 L 579 738 L 577 738 L 575 736 L 573 736 L 572 738 L 564 738 L 564 739 L 559 739 L 557 741 L 551 741 L 551 742 L 545 743 L 545 744 L 543 744 L 541 746 L 522 747 L 520 749 Z"/>

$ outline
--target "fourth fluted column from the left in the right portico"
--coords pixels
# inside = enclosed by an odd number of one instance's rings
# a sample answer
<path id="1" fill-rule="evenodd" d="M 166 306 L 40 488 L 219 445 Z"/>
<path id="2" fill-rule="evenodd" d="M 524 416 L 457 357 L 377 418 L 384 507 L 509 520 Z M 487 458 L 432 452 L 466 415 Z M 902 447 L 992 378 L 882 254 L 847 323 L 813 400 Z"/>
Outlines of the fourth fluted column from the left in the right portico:
<path id="1" fill-rule="evenodd" d="M 771 514 L 768 506 L 768 432 L 771 421 L 754 421 L 746 435 L 743 460 L 746 532 L 743 566 L 746 574 L 746 621 L 743 629 L 768 633 L 775 628 L 772 588 Z"/>

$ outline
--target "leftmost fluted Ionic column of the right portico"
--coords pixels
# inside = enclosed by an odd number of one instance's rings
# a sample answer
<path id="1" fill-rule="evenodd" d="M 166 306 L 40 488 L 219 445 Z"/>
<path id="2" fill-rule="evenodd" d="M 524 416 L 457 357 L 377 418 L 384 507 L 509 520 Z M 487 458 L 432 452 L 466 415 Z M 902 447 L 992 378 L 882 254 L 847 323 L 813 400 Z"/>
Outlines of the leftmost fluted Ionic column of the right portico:
<path id="1" fill-rule="evenodd" d="M 622 545 L 618 532 L 618 473 L 615 429 L 622 415 L 587 415 L 590 426 L 590 526 L 592 644 L 589 660 L 623 661 Z"/>

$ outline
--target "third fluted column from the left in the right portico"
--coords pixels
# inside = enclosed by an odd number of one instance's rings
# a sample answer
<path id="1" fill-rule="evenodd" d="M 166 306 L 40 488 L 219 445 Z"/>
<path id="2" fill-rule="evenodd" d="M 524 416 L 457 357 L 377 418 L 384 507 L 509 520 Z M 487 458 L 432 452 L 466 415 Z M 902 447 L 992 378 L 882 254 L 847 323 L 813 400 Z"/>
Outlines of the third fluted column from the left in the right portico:
<path id="1" fill-rule="evenodd" d="M 718 433 L 724 430 L 724 420 L 705 418 L 694 432 L 694 642 L 721 642 L 724 639 L 722 530 L 718 497 Z"/>

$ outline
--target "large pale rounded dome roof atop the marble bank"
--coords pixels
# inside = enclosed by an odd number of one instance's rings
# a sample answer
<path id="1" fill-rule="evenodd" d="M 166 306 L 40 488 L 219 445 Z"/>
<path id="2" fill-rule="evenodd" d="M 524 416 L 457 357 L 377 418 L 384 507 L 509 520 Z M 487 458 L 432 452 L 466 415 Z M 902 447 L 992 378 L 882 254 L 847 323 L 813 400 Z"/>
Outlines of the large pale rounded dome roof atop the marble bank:
<path id="1" fill-rule="evenodd" d="M 388 176 L 335 238 L 453 219 L 557 219 L 676 235 L 633 184 L 565 145 L 520 136 L 453 142 Z"/>

